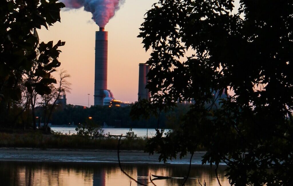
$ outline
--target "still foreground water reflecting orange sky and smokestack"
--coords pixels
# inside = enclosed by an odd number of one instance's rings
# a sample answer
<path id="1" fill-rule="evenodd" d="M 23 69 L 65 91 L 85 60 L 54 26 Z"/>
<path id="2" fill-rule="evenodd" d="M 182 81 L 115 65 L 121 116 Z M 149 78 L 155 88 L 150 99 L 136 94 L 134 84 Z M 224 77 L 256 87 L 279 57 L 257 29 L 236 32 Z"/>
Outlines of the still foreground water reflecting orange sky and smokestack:
<path id="1" fill-rule="evenodd" d="M 188 165 L 161 164 L 123 164 L 123 168 L 134 179 L 147 184 L 149 174 L 179 177 L 168 180 L 155 180 L 158 186 L 181 185 L 187 174 Z M 224 178 L 224 166 L 219 168 L 222 185 L 229 185 Z M 214 175 L 214 167 L 208 165 L 192 166 L 190 177 L 185 185 L 199 185 L 204 180 L 207 185 L 218 185 Z M 195 179 L 197 178 L 197 179 Z M 115 163 L 42 163 L 42 162 L 0 162 L 0 185 L 7 186 L 110 186 L 130 185 L 130 178 L 124 175 Z M 134 181 L 132 186 L 137 185 Z"/>

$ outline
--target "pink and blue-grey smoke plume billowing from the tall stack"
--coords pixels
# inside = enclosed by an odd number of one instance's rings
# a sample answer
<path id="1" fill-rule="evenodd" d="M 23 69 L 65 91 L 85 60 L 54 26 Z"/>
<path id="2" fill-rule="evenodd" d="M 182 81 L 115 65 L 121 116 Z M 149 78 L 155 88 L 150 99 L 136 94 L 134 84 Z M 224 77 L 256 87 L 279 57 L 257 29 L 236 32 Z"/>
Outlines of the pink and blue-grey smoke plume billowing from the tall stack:
<path id="1" fill-rule="evenodd" d="M 125 0 L 63 0 L 62 2 L 70 9 L 84 6 L 85 11 L 93 14 L 92 19 L 97 25 L 104 28 Z"/>

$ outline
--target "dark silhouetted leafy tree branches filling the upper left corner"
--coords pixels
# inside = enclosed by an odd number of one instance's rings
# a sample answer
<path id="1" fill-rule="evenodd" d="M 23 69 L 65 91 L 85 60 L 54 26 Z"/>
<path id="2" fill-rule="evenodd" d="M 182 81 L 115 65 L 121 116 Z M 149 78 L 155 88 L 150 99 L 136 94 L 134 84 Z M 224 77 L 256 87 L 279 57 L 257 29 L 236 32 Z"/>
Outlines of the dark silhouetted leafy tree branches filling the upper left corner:
<path id="1" fill-rule="evenodd" d="M 64 45 L 65 42 L 59 41 L 54 46 L 52 41 L 39 43 L 36 29 L 40 29 L 41 26 L 48 28 L 56 21 L 60 21 L 60 9 L 63 7 L 65 7 L 63 3 L 55 0 L 0 1 L 0 106 L 2 113 L 6 112 L 5 110 L 9 111 L 11 100 L 21 99 L 19 85 L 23 82 L 24 74 L 29 74 L 29 78 L 32 75 L 40 77 L 38 82 L 26 82 L 29 93 L 33 93 L 32 87 L 35 88 L 37 94 L 50 93 L 49 84 L 56 82 L 50 78 L 50 71 L 60 66 L 58 56 L 61 51 L 58 47 Z M 37 50 L 40 52 L 39 56 L 37 56 Z M 38 65 L 34 68 L 35 63 Z M 35 71 L 30 74 L 32 68 Z"/>

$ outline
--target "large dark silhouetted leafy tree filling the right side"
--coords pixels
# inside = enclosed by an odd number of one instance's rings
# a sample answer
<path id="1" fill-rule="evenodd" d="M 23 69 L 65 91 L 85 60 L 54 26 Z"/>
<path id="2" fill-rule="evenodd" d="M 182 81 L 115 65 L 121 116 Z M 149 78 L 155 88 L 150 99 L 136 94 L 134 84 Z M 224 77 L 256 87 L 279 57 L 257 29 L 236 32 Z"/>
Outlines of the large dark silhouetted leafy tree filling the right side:
<path id="1" fill-rule="evenodd" d="M 292 185 L 293 2 L 240 0 L 233 8 L 233 0 L 154 4 L 138 36 L 153 51 L 151 101 L 132 113 L 159 115 L 192 101 L 180 129 L 166 138 L 157 130 L 149 153 L 166 161 L 204 145 L 202 163 L 225 162 L 232 185 Z M 188 49 L 194 54 L 180 61 Z M 226 88 L 234 93 L 212 109 L 213 93 Z"/>

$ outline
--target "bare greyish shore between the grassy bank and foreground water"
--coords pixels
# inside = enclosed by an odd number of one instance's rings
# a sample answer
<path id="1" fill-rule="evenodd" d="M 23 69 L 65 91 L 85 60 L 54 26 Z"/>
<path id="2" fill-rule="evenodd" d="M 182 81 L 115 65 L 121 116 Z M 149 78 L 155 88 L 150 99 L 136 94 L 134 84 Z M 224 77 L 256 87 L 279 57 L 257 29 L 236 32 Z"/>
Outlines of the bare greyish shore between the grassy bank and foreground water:
<path id="1" fill-rule="evenodd" d="M 193 164 L 201 164 L 204 151 L 195 153 Z M 149 156 L 143 151 L 120 151 L 122 163 L 159 163 L 159 154 Z M 114 150 L 76 150 L 76 149 L 33 149 L 0 148 L 0 161 L 42 161 L 42 162 L 118 162 Z M 181 160 L 168 161 L 171 164 L 188 164 L 190 155 Z"/>

